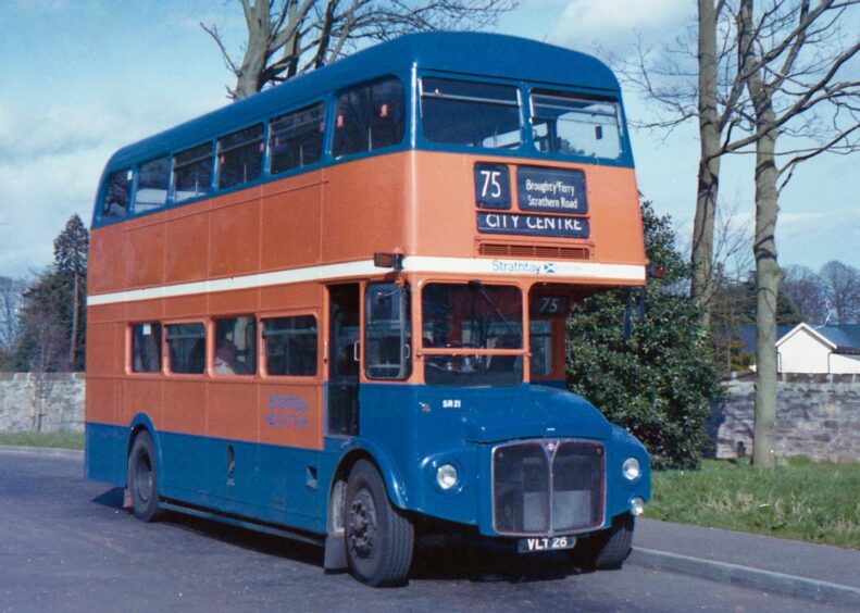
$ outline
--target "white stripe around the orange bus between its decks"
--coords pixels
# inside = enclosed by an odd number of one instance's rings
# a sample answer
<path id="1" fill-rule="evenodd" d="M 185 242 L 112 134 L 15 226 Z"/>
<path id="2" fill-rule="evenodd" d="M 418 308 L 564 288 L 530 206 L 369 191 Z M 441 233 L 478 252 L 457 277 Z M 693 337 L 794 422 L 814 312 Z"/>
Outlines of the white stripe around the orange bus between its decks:
<path id="1" fill-rule="evenodd" d="M 411 273 L 445 273 L 471 275 L 508 275 L 541 277 L 547 280 L 574 280 L 581 278 L 601 278 L 616 282 L 641 283 L 645 280 L 645 266 L 631 264 L 596 264 L 593 262 L 546 262 L 539 260 L 489 260 L 473 258 L 431 258 L 412 255 L 403 259 L 403 271 Z M 238 289 L 254 289 L 306 282 L 335 280 L 347 277 L 363 277 L 390 273 L 390 268 L 374 266 L 373 260 L 308 266 L 272 273 L 259 273 L 237 277 L 208 279 L 97 293 L 87 297 L 89 306 L 176 298 Z"/>

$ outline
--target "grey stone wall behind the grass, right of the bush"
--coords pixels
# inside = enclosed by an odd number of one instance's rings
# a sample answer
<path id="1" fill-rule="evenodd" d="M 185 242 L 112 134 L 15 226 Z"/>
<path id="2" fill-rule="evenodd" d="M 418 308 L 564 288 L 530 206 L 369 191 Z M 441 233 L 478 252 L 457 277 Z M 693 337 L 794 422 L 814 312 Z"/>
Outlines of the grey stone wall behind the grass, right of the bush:
<path id="1" fill-rule="evenodd" d="M 755 399 L 755 379 L 734 379 L 712 403 L 708 434 L 716 458 L 752 453 Z M 776 455 L 860 462 L 860 375 L 781 375 Z"/>

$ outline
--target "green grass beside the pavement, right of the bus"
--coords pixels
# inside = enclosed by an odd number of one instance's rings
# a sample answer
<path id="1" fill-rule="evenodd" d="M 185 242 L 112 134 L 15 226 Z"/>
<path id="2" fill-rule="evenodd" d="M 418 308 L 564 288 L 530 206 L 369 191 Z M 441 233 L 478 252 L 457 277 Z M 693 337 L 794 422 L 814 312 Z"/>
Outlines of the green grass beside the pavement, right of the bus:
<path id="1" fill-rule="evenodd" d="M 646 517 L 860 549 L 860 464 L 705 460 L 653 474 Z"/>

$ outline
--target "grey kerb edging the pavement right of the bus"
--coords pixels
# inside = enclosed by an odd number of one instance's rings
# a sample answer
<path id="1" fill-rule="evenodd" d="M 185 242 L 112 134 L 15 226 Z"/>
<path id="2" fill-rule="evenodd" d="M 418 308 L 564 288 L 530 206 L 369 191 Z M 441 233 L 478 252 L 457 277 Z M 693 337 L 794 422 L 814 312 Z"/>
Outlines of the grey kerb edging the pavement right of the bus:
<path id="1" fill-rule="evenodd" d="M 633 548 L 627 562 L 722 584 L 750 587 L 792 598 L 803 598 L 860 610 L 860 589 L 820 579 L 640 547 Z"/>

